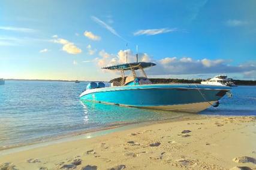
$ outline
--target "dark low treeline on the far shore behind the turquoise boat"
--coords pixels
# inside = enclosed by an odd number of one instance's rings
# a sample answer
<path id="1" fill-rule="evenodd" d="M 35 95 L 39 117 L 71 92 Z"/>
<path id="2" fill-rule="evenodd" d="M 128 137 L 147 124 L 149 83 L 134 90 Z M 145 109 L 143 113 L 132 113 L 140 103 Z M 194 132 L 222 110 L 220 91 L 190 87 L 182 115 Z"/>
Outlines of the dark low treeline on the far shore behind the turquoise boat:
<path id="1" fill-rule="evenodd" d="M 125 77 L 127 78 L 127 77 Z M 115 78 L 110 81 L 112 83 L 113 81 L 121 82 L 122 78 Z M 149 80 L 152 82 L 152 84 L 200 84 L 203 79 L 163 79 L 163 78 L 149 78 Z M 234 84 L 236 85 L 256 85 L 256 81 L 242 81 L 242 80 L 233 80 Z"/>

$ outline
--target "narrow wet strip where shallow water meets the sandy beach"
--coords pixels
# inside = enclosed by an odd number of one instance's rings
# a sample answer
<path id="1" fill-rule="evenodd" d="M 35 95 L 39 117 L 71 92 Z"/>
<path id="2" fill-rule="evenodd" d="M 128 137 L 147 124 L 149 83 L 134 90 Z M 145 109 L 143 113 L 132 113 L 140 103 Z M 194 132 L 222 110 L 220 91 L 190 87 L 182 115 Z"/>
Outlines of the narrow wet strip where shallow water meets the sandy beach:
<path id="1" fill-rule="evenodd" d="M 74 141 L 79 138 L 84 138 L 89 135 L 94 137 L 110 134 L 112 132 L 124 131 L 125 129 L 138 128 L 141 126 L 147 126 L 150 124 L 166 123 L 166 122 L 178 122 L 182 120 L 195 120 L 195 119 L 206 119 L 207 116 L 214 117 L 215 115 L 198 115 L 188 113 L 188 116 L 178 116 L 174 118 L 162 119 L 162 120 L 144 120 L 141 122 L 125 122 L 125 123 L 113 123 L 113 125 L 104 126 L 102 128 L 81 130 L 76 132 L 70 132 L 67 134 L 53 135 L 50 137 L 43 137 L 40 139 L 32 140 L 28 143 L 13 144 L 11 146 L 0 146 L 0 156 L 2 153 L 8 152 L 8 150 L 20 150 L 20 148 L 35 148 L 40 146 L 47 146 L 49 144 L 62 143 L 65 141 Z M 218 115 L 217 115 L 218 116 Z M 92 137 L 88 137 L 92 138 Z M 8 152 L 9 153 L 9 152 Z"/>

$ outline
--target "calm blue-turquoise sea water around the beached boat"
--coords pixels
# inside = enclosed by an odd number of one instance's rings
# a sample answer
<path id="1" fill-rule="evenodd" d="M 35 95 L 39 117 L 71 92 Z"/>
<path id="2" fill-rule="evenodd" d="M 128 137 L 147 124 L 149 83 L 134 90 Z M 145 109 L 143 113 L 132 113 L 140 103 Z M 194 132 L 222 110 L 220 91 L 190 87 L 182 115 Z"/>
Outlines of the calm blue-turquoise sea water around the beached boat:
<path id="1" fill-rule="evenodd" d="M 74 132 L 149 120 L 195 116 L 79 101 L 86 82 L 6 81 L 0 86 L 0 149 Z M 256 115 L 256 86 L 237 86 L 233 98 L 201 115 Z"/>

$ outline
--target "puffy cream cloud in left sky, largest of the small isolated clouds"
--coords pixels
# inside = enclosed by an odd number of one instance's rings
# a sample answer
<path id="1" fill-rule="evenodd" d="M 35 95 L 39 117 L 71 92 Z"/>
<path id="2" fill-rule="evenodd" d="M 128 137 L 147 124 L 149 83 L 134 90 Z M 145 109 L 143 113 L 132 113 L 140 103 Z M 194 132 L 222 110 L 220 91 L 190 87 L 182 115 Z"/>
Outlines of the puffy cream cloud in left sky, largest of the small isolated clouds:
<path id="1" fill-rule="evenodd" d="M 74 45 L 73 42 L 69 42 L 67 39 L 55 38 L 52 40 L 52 42 L 62 44 L 63 45 L 62 50 L 68 52 L 69 54 L 79 54 L 82 52 L 80 48 L 76 47 L 76 45 Z"/>

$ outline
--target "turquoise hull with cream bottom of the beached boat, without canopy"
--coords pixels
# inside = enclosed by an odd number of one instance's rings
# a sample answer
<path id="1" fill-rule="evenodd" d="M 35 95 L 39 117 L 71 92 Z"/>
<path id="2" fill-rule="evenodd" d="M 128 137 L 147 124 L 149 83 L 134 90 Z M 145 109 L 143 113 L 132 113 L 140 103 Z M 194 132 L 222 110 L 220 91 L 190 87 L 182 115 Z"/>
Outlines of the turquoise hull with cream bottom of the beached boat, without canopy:
<path id="1" fill-rule="evenodd" d="M 228 86 L 150 84 L 89 89 L 80 100 L 145 109 L 198 113 L 230 91 Z"/>

